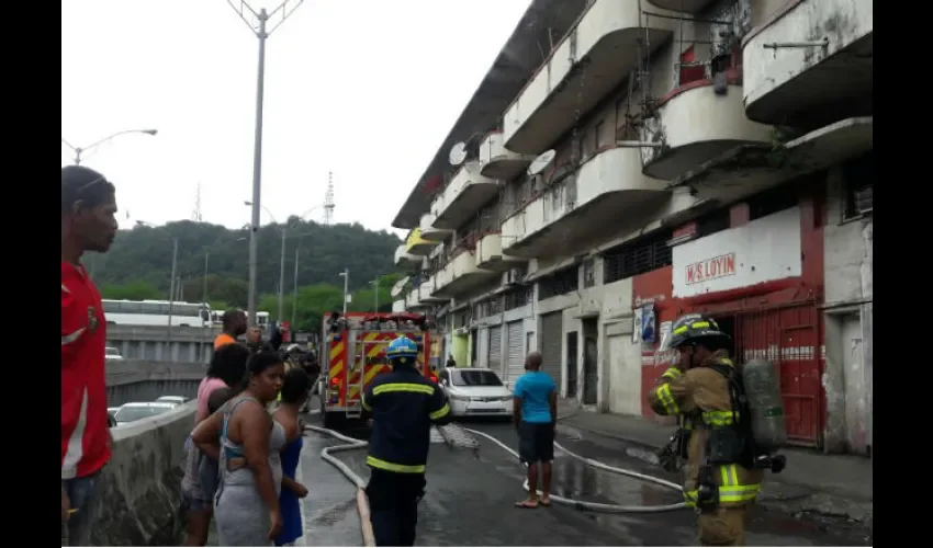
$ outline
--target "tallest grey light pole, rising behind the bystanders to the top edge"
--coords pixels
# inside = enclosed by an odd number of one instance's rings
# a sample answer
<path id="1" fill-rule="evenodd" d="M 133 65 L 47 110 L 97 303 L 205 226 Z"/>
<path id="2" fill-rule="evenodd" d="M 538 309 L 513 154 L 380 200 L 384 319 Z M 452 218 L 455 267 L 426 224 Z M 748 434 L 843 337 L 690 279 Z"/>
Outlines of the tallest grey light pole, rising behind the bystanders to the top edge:
<path id="1" fill-rule="evenodd" d="M 240 0 L 239 7 L 234 4 L 234 0 L 227 0 L 239 18 L 246 23 L 252 34 L 259 38 L 259 65 L 256 77 L 256 135 L 254 137 L 252 148 L 252 226 L 249 231 L 249 295 L 248 295 L 248 311 L 249 323 L 256 324 L 256 282 L 257 282 L 257 261 L 258 248 L 256 231 L 259 230 L 259 208 L 261 207 L 261 189 L 262 189 L 262 100 L 266 91 L 266 38 L 268 38 L 276 28 L 281 25 L 285 19 L 291 15 L 303 0 L 285 0 L 271 13 L 265 8 L 256 13 L 256 10 L 250 8 L 248 3 Z M 291 4 L 291 5 L 290 5 Z M 258 25 L 254 25 L 246 16 L 247 12 L 258 21 Z M 267 28 L 267 22 L 273 16 L 281 14 L 282 19 L 276 23 L 271 30 Z"/>

